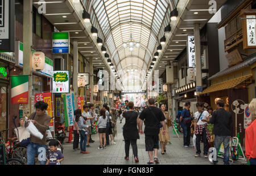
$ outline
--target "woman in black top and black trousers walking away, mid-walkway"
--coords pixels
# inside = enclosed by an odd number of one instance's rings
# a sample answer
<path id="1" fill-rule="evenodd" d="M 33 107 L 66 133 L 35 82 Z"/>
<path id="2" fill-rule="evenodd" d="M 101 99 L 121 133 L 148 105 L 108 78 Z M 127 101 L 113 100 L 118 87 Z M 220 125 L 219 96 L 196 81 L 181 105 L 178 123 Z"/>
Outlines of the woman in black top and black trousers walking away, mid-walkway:
<path id="1" fill-rule="evenodd" d="M 128 103 L 129 110 L 123 112 L 125 118 L 125 125 L 123 126 L 123 138 L 125 139 L 125 160 L 129 160 L 129 148 L 130 144 L 133 148 L 133 154 L 135 162 L 139 162 L 137 139 L 139 139 L 139 132 L 137 126 L 139 126 L 138 113 L 133 111 L 133 102 Z"/>

